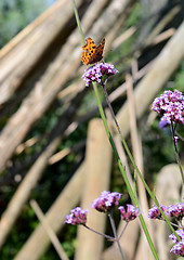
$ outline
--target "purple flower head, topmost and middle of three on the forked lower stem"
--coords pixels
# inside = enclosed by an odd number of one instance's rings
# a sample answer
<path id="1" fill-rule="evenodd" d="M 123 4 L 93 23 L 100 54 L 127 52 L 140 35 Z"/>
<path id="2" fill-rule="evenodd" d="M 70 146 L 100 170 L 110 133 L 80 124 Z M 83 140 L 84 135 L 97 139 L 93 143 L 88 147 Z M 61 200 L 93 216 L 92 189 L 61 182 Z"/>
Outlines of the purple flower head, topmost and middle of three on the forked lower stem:
<path id="1" fill-rule="evenodd" d="M 91 207 L 100 212 L 108 212 L 115 206 L 118 206 L 121 195 L 121 193 L 104 191 L 98 198 L 93 200 Z"/>

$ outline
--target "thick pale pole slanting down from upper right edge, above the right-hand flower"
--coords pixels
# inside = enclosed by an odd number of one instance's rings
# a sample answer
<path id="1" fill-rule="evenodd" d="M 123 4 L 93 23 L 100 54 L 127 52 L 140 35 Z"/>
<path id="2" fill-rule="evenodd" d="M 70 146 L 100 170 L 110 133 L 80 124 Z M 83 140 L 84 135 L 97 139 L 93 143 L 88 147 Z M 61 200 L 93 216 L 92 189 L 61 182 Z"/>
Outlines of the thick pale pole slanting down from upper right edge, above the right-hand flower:
<path id="1" fill-rule="evenodd" d="M 134 91 L 136 116 L 140 118 L 166 81 L 180 66 L 184 57 L 184 23 L 178 28 L 173 37 L 165 46 L 158 57 L 153 63 L 147 75 L 139 82 Z M 172 63 L 170 62 L 172 61 Z M 130 129 L 128 102 L 118 112 L 117 120 L 126 136 Z M 126 123 L 124 123 L 126 122 Z"/>

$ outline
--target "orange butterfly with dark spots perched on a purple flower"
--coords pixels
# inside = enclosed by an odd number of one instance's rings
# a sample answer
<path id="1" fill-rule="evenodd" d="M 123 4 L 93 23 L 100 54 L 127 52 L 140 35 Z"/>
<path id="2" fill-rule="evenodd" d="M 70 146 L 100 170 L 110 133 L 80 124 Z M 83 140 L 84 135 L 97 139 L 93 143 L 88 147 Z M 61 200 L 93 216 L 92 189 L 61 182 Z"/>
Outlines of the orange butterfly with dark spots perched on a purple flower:
<path id="1" fill-rule="evenodd" d="M 91 38 L 86 39 L 87 44 L 82 47 L 83 52 L 81 61 L 83 64 L 94 64 L 103 58 L 103 50 L 105 46 L 105 39 L 102 40 L 101 44 L 96 47 Z"/>

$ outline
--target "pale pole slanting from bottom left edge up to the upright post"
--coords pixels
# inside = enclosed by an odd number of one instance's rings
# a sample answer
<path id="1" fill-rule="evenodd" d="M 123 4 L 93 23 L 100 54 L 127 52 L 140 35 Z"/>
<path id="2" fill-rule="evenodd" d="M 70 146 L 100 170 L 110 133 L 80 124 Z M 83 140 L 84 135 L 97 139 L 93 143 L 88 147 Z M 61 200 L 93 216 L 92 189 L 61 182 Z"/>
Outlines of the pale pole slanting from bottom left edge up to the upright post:
<path id="1" fill-rule="evenodd" d="M 55 233 L 62 229 L 65 216 L 79 203 L 86 172 L 87 167 L 83 162 L 47 212 L 45 219 Z M 14 260 L 38 260 L 49 244 L 50 239 L 45 230 L 39 224 Z"/>

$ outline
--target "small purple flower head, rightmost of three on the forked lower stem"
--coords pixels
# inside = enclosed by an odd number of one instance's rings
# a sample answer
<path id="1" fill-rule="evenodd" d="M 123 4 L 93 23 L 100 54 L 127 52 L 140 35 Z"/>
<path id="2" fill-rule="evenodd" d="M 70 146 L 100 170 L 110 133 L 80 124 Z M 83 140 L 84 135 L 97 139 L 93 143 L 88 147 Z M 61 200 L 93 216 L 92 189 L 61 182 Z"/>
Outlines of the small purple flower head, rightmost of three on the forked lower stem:
<path id="1" fill-rule="evenodd" d="M 118 209 L 120 210 L 121 219 L 126 220 L 126 222 L 136 219 L 136 217 L 141 213 L 139 208 L 135 208 L 130 204 L 127 204 L 127 209 L 123 206 L 120 206 Z"/>

